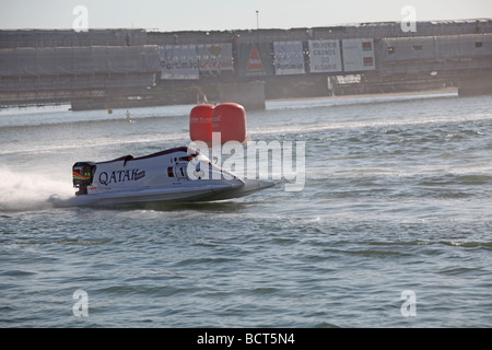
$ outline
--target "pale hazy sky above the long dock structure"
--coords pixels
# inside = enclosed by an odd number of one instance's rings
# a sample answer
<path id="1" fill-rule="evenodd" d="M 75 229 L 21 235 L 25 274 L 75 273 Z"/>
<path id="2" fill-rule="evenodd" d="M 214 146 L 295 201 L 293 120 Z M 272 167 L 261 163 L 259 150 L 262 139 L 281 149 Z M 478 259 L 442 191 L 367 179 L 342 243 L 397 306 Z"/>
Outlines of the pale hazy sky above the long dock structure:
<path id="1" fill-rule="evenodd" d="M 288 30 L 401 22 L 408 16 L 417 21 L 492 19 L 492 0 L 0 0 L 1 30 L 74 25 L 161 32 Z"/>

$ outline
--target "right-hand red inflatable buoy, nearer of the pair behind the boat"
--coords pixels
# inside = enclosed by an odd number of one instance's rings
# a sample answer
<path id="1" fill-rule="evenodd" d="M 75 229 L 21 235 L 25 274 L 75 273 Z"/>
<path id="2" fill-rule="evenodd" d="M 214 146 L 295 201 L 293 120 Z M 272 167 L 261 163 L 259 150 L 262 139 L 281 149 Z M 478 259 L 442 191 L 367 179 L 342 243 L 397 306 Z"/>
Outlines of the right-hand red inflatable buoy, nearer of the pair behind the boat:
<path id="1" fill-rule="evenodd" d="M 221 143 L 246 140 L 246 110 L 237 103 L 222 103 L 212 110 L 212 132 L 221 133 Z"/>

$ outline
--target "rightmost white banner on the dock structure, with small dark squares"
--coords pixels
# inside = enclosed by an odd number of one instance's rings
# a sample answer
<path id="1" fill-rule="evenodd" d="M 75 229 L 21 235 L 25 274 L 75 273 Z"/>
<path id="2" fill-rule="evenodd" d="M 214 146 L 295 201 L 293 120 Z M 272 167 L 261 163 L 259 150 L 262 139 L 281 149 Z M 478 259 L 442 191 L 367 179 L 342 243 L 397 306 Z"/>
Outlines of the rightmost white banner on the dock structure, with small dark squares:
<path id="1" fill-rule="evenodd" d="M 376 69 L 373 39 L 342 39 L 342 51 L 345 72 Z"/>

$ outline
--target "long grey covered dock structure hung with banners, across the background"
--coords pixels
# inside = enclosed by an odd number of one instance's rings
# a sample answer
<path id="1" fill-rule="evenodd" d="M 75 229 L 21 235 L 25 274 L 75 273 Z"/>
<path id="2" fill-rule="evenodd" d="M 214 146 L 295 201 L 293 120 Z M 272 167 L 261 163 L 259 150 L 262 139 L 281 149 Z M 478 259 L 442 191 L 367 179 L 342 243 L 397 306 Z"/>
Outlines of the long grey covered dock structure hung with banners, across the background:
<path id="1" fill-rule="evenodd" d="M 0 31 L 0 106 L 72 109 L 456 88 L 492 94 L 492 20 L 291 30 Z"/>

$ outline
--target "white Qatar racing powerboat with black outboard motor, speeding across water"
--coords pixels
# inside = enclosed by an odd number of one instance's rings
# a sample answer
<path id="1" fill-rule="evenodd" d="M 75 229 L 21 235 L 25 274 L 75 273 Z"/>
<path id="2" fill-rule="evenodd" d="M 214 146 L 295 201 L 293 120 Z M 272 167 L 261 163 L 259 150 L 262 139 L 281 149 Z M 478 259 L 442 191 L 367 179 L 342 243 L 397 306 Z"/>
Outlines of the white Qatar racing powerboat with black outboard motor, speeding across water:
<path id="1" fill-rule="evenodd" d="M 77 162 L 72 167 L 73 206 L 212 201 L 239 198 L 274 184 L 239 176 L 213 164 L 190 147 L 107 162 Z"/>

